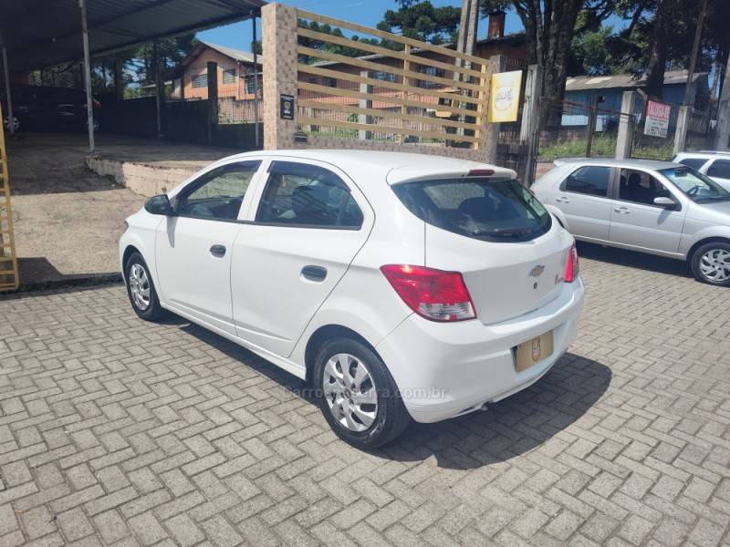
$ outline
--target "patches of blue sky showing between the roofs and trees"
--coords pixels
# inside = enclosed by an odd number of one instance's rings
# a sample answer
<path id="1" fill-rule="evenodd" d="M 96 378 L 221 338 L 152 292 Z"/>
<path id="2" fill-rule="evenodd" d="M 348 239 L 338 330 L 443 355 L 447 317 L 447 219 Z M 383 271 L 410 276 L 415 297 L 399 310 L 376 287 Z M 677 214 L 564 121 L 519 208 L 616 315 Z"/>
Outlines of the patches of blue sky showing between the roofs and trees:
<path id="1" fill-rule="evenodd" d="M 394 0 L 280 0 L 282 4 L 294 5 L 322 15 L 345 19 L 365 26 L 376 26 L 382 15 L 389 9 L 396 9 Z M 462 5 L 461 0 L 431 0 L 435 6 Z M 622 26 L 618 17 L 611 17 L 607 24 Z M 522 23 L 514 13 L 506 17 L 505 32 L 507 34 L 522 30 Z M 257 33 L 261 39 L 261 26 Z M 486 36 L 486 21 L 479 21 L 479 37 Z M 219 46 L 235 47 L 249 51 L 251 48 L 251 21 L 242 21 L 233 25 L 219 26 L 198 33 L 202 40 Z"/>

